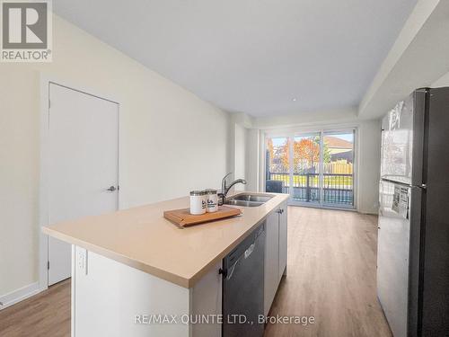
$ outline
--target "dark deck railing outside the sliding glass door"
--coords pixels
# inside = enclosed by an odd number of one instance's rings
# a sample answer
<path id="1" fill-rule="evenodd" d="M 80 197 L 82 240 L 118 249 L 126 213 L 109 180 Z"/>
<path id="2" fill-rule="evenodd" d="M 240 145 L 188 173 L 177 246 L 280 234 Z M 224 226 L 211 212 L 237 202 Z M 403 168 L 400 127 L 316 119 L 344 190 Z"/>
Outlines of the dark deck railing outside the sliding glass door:
<path id="1" fill-rule="evenodd" d="M 290 173 L 267 173 L 267 179 L 280 181 L 282 192 L 290 193 Z M 323 173 L 322 201 L 326 204 L 350 206 L 354 204 L 354 184 L 352 174 Z M 320 174 L 293 173 L 294 200 L 304 202 L 320 201 Z"/>

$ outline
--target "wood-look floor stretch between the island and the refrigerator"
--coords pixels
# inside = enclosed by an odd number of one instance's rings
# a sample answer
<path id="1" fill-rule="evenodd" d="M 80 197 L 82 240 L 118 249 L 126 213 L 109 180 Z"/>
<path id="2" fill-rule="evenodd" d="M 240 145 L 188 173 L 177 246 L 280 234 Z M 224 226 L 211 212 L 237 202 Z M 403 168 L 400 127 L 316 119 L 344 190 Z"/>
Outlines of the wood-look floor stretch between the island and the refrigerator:
<path id="1" fill-rule="evenodd" d="M 392 336 L 376 296 L 377 217 L 288 208 L 287 275 L 269 315 L 314 324 L 267 324 L 266 337 Z"/>

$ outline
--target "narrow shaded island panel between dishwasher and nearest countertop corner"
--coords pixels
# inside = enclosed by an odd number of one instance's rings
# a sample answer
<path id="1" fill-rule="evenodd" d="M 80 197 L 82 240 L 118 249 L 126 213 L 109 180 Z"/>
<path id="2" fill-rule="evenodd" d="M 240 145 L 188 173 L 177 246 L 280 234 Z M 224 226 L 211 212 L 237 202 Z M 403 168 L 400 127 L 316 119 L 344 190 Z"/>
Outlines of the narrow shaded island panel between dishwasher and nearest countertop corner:
<path id="1" fill-rule="evenodd" d="M 191 337 L 221 337 L 222 335 L 222 324 L 216 321 L 218 316 L 222 315 L 223 280 L 222 275 L 218 273 L 220 268 L 222 268 L 222 262 L 212 267 L 193 288 L 190 288 Z"/>

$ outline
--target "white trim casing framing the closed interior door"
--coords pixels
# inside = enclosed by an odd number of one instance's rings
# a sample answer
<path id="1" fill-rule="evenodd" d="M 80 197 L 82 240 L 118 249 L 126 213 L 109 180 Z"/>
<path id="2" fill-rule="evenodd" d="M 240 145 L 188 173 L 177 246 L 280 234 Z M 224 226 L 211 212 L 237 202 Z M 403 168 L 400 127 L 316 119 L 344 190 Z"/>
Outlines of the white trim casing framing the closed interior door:
<path id="1" fill-rule="evenodd" d="M 86 88 L 84 85 L 69 84 L 54 75 L 40 73 L 40 198 L 39 198 L 39 288 L 40 291 L 48 288 L 48 235 L 41 231 L 42 226 L 48 226 L 48 117 L 49 117 L 49 84 L 57 84 L 67 89 L 75 90 L 80 93 L 90 94 L 94 97 L 113 102 L 118 108 L 118 142 L 120 139 L 120 103 L 112 99 L 111 95 L 98 93 L 97 90 Z M 120 155 L 120 144 L 118 144 L 118 158 Z M 119 159 L 118 162 L 120 163 Z M 117 182 L 120 186 L 120 165 L 118 163 Z M 118 191 L 118 209 L 121 208 L 120 189 Z"/>

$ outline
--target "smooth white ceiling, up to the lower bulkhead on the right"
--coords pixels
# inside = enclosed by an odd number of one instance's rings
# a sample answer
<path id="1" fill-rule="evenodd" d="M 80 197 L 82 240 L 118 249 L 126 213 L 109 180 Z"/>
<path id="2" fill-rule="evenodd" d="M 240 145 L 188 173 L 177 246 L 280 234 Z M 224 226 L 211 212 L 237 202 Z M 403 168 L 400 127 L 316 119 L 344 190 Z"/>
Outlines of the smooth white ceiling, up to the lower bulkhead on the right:
<path id="1" fill-rule="evenodd" d="M 417 0 L 57 0 L 54 11 L 225 111 L 356 107 Z"/>

